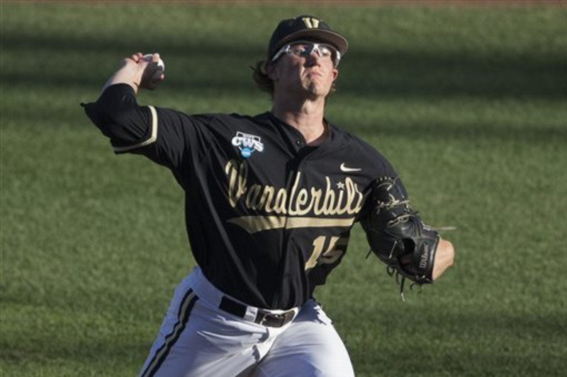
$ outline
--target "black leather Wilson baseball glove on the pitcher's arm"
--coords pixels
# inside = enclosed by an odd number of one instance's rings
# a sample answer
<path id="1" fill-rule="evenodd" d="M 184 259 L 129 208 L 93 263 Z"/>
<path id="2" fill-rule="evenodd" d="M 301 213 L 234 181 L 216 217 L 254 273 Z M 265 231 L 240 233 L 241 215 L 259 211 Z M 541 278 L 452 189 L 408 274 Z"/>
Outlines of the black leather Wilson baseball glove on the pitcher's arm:
<path id="1" fill-rule="evenodd" d="M 371 252 L 386 263 L 388 274 L 395 276 L 404 300 L 405 279 L 413 282 L 410 288 L 433 282 L 439 233 L 423 224 L 397 180 L 384 177 L 372 183 L 368 211 L 361 225 Z"/>

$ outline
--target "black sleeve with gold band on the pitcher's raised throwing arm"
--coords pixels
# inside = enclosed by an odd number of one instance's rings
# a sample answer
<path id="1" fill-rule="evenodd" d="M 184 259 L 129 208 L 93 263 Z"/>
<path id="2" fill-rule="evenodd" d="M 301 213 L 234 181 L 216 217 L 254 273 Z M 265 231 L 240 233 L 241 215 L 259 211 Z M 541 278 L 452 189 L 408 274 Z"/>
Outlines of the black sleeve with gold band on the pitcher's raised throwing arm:
<path id="1" fill-rule="evenodd" d="M 111 141 L 115 153 L 135 153 L 170 168 L 181 182 L 184 163 L 208 150 L 206 116 L 194 116 L 137 104 L 126 84 L 109 86 L 95 103 L 83 104 L 86 115 Z"/>

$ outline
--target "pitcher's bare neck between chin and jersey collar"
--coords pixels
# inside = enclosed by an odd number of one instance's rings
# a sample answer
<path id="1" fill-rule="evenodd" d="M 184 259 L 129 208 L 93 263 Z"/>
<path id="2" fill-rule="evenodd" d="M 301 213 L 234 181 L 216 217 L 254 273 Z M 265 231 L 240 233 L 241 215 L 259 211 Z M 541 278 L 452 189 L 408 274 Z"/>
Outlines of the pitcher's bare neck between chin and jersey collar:
<path id="1" fill-rule="evenodd" d="M 283 122 L 297 129 L 308 145 L 318 145 L 327 137 L 327 127 L 323 120 L 325 99 L 304 101 L 295 105 L 283 105 L 274 101 L 271 112 Z"/>

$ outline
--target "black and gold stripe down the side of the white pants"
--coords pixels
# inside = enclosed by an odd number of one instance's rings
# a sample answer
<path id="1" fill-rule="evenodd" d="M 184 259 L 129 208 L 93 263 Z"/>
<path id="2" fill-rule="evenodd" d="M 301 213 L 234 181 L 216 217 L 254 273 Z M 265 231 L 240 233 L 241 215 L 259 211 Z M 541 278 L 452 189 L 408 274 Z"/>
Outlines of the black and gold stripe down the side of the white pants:
<path id="1" fill-rule="evenodd" d="M 181 332 L 183 332 L 187 321 L 189 320 L 189 314 L 191 314 L 191 310 L 195 305 L 195 302 L 198 300 L 198 296 L 193 292 L 193 289 L 189 289 L 185 294 L 184 298 L 181 299 L 181 304 L 179 305 L 179 314 L 177 315 L 177 322 L 175 323 L 172 332 L 169 333 L 164 339 L 164 344 L 162 347 L 157 349 L 155 356 L 150 361 L 150 364 L 147 365 L 147 368 L 142 373 L 142 377 L 150 377 L 154 376 L 159 366 L 162 365 L 167 354 L 171 351 L 172 347 L 174 346 L 175 342 L 179 339 Z"/>

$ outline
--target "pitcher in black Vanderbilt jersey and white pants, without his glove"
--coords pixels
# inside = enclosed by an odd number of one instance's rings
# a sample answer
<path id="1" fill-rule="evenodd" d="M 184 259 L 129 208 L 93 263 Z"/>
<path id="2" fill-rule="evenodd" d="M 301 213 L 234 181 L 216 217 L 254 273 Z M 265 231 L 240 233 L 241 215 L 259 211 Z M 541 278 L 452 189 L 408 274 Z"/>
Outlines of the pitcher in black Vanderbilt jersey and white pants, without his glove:
<path id="1" fill-rule="evenodd" d="M 197 267 L 177 286 L 140 376 L 354 376 L 313 291 L 374 205 L 376 178 L 397 175 L 324 117 L 347 47 L 314 16 L 281 21 L 254 70 L 273 106 L 255 116 L 138 105 L 137 92 L 164 79 L 158 54 L 124 59 L 84 104 L 116 153 L 169 168 L 186 196 Z M 432 245 L 437 279 L 453 248 L 438 236 Z"/>

